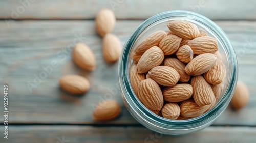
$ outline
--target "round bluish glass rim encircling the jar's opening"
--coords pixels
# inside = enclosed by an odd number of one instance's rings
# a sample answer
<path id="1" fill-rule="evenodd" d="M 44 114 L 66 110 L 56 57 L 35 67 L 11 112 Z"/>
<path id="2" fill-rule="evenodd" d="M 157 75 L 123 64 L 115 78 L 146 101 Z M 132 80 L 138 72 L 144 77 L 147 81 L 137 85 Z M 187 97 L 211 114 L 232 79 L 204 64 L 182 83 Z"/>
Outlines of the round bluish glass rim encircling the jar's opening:
<path id="1" fill-rule="evenodd" d="M 201 22 L 203 25 L 207 26 L 207 28 L 209 28 L 211 31 L 215 32 L 216 36 L 218 36 L 218 38 L 221 40 L 220 42 L 222 42 L 222 44 L 224 45 L 223 48 L 227 52 L 228 61 L 229 61 L 228 63 L 230 67 L 229 76 L 231 77 L 228 81 L 227 90 L 225 91 L 222 99 L 215 105 L 214 108 L 212 108 L 211 110 L 209 110 L 208 112 L 204 113 L 199 117 L 187 119 L 187 120 L 166 119 L 166 118 L 155 115 L 153 112 L 143 107 L 142 103 L 137 99 L 136 95 L 132 90 L 132 87 L 130 84 L 130 78 L 129 78 L 129 71 L 127 70 L 128 69 L 127 67 L 129 66 L 129 55 L 134 45 L 134 42 L 137 39 L 137 36 L 153 23 L 160 21 L 162 19 L 172 18 L 177 16 Z M 137 115 L 139 115 L 140 118 L 143 119 L 143 121 L 139 121 L 139 122 L 141 122 L 146 127 L 153 125 L 159 128 L 165 128 L 167 130 L 187 130 L 187 129 L 193 129 L 193 128 L 200 128 L 200 126 L 208 124 L 214 119 L 218 118 L 219 115 L 225 110 L 225 108 L 227 107 L 227 104 L 232 98 L 232 95 L 234 93 L 234 88 L 237 83 L 237 76 L 238 76 L 236 54 L 226 34 L 221 30 L 221 28 L 216 23 L 214 23 L 210 19 L 200 14 L 189 12 L 189 11 L 163 12 L 145 20 L 142 24 L 140 24 L 124 44 L 124 47 L 119 59 L 118 70 L 119 70 L 118 72 L 119 83 L 123 93 L 122 96 L 124 100 L 127 101 L 127 104 L 129 104 L 127 106 L 131 107 L 129 109 L 134 110 L 134 112 Z M 155 130 L 155 131 L 159 132 L 159 130 Z M 164 133 L 164 132 L 161 132 L 161 133 Z"/>

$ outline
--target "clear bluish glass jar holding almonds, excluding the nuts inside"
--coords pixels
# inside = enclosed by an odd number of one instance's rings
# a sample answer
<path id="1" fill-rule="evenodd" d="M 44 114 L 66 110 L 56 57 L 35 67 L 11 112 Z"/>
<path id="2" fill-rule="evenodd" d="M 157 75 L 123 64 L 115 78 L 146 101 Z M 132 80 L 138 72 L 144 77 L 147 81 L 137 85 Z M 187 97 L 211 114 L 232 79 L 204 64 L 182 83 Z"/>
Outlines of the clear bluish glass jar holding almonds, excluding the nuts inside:
<path id="1" fill-rule="evenodd" d="M 209 36 L 215 37 L 227 71 L 219 102 L 208 112 L 193 119 L 170 120 L 155 115 L 138 100 L 130 83 L 129 72 L 133 64 L 133 51 L 148 35 L 158 30 L 168 30 L 167 23 L 172 20 L 189 21 L 207 31 Z M 236 54 L 226 34 L 210 19 L 188 11 L 168 11 L 145 20 L 127 39 L 119 60 L 119 82 L 126 108 L 139 123 L 162 134 L 182 135 L 199 131 L 213 124 L 228 106 L 236 88 L 237 77 Z"/>

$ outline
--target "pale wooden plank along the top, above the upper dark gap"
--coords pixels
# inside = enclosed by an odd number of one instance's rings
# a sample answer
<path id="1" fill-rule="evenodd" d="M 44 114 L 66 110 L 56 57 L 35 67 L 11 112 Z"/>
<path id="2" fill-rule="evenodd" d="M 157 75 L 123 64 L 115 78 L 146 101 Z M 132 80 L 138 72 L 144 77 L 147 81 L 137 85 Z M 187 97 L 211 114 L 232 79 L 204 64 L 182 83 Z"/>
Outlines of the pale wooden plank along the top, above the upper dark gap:
<path id="1" fill-rule="evenodd" d="M 110 8 L 118 19 L 147 19 L 165 11 L 187 10 L 210 19 L 255 20 L 255 5 L 252 0 L 9 0 L 0 2 L 0 19 L 94 19 L 99 9 Z"/>

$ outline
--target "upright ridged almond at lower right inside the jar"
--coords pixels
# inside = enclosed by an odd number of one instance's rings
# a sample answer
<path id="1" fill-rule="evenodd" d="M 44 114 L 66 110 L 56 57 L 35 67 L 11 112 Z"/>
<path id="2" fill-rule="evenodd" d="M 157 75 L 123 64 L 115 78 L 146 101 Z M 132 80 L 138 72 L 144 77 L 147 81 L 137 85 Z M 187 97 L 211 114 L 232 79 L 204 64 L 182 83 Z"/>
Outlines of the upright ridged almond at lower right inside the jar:
<path id="1" fill-rule="evenodd" d="M 214 92 L 201 75 L 193 76 L 190 84 L 193 88 L 193 98 L 199 106 L 210 105 L 213 102 Z"/>

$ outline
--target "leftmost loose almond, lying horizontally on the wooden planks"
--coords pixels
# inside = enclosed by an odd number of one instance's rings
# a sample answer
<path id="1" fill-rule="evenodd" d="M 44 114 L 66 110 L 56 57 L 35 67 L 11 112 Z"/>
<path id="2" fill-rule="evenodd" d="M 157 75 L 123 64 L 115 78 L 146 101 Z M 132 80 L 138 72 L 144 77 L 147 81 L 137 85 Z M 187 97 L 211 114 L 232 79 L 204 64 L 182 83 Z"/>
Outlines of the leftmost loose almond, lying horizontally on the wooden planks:
<path id="1" fill-rule="evenodd" d="M 71 94 L 83 94 L 90 89 L 89 81 L 79 75 L 65 75 L 59 79 L 60 87 Z"/>

